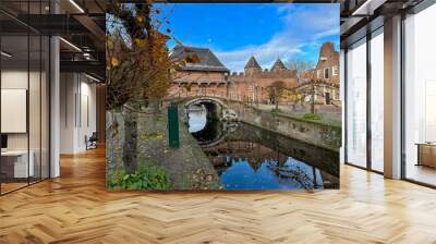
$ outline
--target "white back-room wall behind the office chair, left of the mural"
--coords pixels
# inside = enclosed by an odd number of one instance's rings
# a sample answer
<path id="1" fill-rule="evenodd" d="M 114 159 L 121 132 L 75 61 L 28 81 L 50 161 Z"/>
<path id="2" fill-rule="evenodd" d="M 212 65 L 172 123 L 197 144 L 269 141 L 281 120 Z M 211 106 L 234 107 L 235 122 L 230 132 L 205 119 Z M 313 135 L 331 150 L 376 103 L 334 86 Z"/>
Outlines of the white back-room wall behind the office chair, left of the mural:
<path id="1" fill-rule="evenodd" d="M 96 85 L 83 74 L 61 73 L 60 152 L 86 150 L 85 136 L 96 131 Z"/>

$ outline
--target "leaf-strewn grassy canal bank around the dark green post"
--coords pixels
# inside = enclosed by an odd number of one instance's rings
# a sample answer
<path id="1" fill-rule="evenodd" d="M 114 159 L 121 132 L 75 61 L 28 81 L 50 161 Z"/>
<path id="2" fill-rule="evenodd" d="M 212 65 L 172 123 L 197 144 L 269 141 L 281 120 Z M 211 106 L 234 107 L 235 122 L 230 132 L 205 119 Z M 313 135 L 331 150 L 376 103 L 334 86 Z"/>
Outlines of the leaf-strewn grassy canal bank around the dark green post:
<path id="1" fill-rule="evenodd" d="M 166 109 L 162 109 L 166 111 Z M 119 135 L 122 138 L 122 115 L 118 117 Z M 183 122 L 179 121 L 180 148 L 169 148 L 167 115 L 160 113 L 157 117 L 150 114 L 140 114 L 137 121 L 138 143 L 137 159 L 138 164 L 157 167 L 165 172 L 169 179 L 168 190 L 218 190 L 220 188 L 219 178 L 197 142 L 189 133 Z M 154 133 L 150 133 L 154 132 Z M 113 138 L 109 138 L 112 139 Z M 121 161 L 122 139 L 112 142 L 112 148 L 118 145 L 117 155 L 108 154 L 108 178 L 123 169 Z M 110 146 L 110 145 L 109 145 Z M 121 151 L 120 151 L 121 150 Z M 118 160 L 112 160 L 117 159 Z M 110 181 L 110 179 L 108 179 Z M 117 187 L 114 187 L 117 188 Z M 153 190 L 153 188 L 148 188 Z"/>

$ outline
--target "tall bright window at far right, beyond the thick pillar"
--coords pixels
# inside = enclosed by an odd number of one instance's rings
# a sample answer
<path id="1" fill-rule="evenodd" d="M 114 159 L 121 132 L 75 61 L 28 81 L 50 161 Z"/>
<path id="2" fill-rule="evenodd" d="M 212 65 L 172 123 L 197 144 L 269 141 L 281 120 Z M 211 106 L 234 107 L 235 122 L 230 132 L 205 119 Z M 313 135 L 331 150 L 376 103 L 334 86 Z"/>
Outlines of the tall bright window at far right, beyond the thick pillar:
<path id="1" fill-rule="evenodd" d="M 404 20 L 405 178 L 436 185 L 436 4 Z"/>

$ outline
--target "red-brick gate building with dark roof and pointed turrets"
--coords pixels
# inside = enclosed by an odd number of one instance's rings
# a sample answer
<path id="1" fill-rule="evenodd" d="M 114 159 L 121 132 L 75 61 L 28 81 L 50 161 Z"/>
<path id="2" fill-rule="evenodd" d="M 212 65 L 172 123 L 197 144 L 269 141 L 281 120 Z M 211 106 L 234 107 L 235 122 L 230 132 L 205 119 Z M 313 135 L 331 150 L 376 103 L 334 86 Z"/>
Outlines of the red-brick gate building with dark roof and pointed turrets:
<path id="1" fill-rule="evenodd" d="M 295 88 L 295 70 L 288 70 L 277 59 L 270 70 L 263 70 L 254 57 L 251 57 L 244 72 L 230 71 L 208 48 L 177 46 L 171 54 L 184 59 L 185 64 L 177 72 L 171 97 L 215 96 L 250 102 L 268 102 L 271 99 L 270 87 Z"/>

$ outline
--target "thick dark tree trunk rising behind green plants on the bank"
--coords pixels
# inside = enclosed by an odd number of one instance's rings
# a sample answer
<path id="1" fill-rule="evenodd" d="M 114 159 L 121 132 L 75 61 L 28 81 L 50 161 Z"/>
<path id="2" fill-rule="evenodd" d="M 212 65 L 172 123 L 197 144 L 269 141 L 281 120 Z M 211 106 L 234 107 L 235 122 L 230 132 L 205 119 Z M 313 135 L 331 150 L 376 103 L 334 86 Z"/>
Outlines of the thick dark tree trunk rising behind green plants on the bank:
<path id="1" fill-rule="evenodd" d="M 137 112 L 124 112 L 123 163 L 126 173 L 134 173 L 137 168 Z"/>

